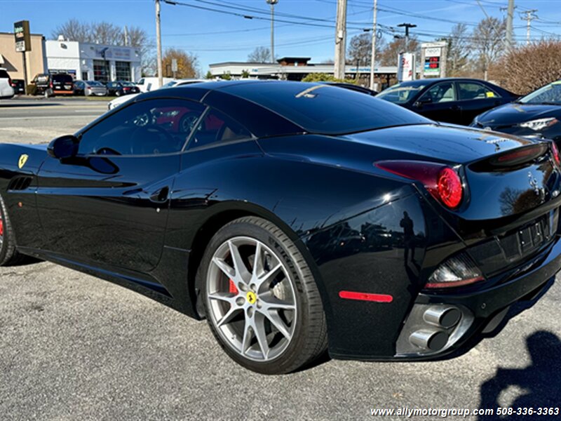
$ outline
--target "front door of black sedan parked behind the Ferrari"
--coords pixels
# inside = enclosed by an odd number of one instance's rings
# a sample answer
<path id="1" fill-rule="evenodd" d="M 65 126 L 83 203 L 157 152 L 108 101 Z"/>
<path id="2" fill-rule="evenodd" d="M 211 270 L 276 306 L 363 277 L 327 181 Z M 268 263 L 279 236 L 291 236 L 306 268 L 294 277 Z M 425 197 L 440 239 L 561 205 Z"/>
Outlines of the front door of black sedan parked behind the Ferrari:
<path id="1" fill-rule="evenodd" d="M 457 123 L 461 119 L 461 109 L 454 82 L 444 81 L 428 88 L 414 103 L 413 110 L 428 119 Z"/>

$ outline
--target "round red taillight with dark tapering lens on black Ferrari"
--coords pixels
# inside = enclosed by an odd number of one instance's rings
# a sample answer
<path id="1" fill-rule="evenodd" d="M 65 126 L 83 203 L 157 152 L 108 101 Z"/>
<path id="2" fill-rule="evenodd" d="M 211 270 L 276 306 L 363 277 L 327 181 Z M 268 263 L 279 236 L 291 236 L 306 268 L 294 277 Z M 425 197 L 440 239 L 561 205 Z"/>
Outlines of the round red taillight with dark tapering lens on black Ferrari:
<path id="1" fill-rule="evenodd" d="M 449 166 L 423 161 L 380 161 L 374 166 L 422 182 L 428 192 L 447 208 L 457 208 L 464 196 L 460 176 Z"/>

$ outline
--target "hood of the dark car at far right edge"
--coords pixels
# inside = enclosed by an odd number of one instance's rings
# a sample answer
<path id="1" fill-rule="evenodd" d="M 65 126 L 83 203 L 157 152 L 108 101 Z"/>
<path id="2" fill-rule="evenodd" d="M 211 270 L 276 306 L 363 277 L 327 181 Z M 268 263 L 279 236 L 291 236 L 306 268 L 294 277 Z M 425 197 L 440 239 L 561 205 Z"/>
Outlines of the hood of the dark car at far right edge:
<path id="1" fill-rule="evenodd" d="M 499 126 L 512 126 L 524 121 L 544 119 L 546 117 L 558 117 L 560 115 L 560 105 L 517 104 L 513 102 L 490 109 L 480 114 L 476 119 L 481 126 L 494 128 Z"/>

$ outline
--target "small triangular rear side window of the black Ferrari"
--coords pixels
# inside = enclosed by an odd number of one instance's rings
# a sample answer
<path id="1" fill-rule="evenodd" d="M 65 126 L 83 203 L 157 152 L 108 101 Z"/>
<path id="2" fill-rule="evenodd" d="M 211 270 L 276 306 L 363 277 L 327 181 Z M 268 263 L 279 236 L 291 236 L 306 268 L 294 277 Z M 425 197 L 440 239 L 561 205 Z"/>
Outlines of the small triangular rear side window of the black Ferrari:
<path id="1" fill-rule="evenodd" d="M 247 128 L 226 114 L 210 109 L 198 124 L 187 149 L 251 138 Z"/>

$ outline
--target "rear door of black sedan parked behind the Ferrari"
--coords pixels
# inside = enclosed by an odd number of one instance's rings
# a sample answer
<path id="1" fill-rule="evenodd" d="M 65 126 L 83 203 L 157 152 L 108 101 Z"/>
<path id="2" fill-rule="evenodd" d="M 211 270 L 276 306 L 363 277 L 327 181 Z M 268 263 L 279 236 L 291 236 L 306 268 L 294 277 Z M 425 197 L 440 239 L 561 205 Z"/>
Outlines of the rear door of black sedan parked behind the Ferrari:
<path id="1" fill-rule="evenodd" d="M 457 93 L 461 104 L 459 123 L 466 126 L 475 119 L 475 116 L 503 103 L 499 93 L 475 81 L 457 82 Z"/>

